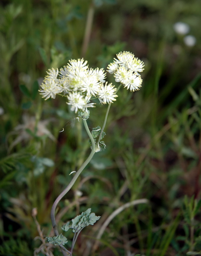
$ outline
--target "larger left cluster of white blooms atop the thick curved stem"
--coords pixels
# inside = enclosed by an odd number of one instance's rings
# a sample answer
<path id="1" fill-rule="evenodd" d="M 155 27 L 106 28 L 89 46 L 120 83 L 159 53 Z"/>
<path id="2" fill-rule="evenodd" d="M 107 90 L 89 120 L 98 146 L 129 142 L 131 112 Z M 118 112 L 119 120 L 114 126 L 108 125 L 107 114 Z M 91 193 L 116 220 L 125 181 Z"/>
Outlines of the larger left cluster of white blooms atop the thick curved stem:
<path id="1" fill-rule="evenodd" d="M 39 90 L 42 97 L 47 100 L 55 99 L 56 94 L 67 94 L 66 103 L 75 113 L 94 107 L 94 103 L 90 103 L 92 97 L 98 98 L 103 104 L 116 101 L 117 88 L 105 83 L 104 69 L 89 69 L 86 64 L 87 61 L 83 59 L 70 60 L 60 71 L 49 69 Z"/>

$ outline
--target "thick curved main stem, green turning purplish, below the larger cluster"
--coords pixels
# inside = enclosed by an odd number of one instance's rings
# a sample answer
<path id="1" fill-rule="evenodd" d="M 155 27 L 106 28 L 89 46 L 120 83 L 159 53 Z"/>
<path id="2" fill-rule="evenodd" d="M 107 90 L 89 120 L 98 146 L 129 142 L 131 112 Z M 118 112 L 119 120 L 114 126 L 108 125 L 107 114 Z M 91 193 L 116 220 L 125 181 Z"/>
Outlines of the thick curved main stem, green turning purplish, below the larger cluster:
<path id="1" fill-rule="evenodd" d="M 80 167 L 80 169 L 76 172 L 75 176 L 73 177 L 73 179 L 71 180 L 71 182 L 69 183 L 69 185 L 64 189 L 63 192 L 61 192 L 61 194 L 57 197 L 57 199 L 55 200 L 52 209 L 51 209 L 51 220 L 52 220 L 52 226 L 55 232 L 55 236 L 58 236 L 58 229 L 57 229 L 57 223 L 55 220 L 55 210 L 57 208 L 57 205 L 59 203 L 59 201 L 63 198 L 64 195 L 66 195 L 66 193 L 71 189 L 71 187 L 73 186 L 73 184 L 75 183 L 75 181 L 77 180 L 77 178 L 79 177 L 79 175 L 81 174 L 82 170 L 86 167 L 86 165 L 91 161 L 93 155 L 95 154 L 95 142 L 94 142 L 94 138 L 92 137 L 92 134 L 88 128 L 87 122 L 86 120 L 83 120 L 84 123 L 84 127 L 86 129 L 87 134 L 89 135 L 89 138 L 92 142 L 92 151 L 90 153 L 90 155 L 88 156 L 88 158 L 85 160 L 85 162 L 82 164 L 82 166 Z M 62 251 L 63 252 L 63 251 Z M 65 252 L 63 252 L 63 255 Z"/>

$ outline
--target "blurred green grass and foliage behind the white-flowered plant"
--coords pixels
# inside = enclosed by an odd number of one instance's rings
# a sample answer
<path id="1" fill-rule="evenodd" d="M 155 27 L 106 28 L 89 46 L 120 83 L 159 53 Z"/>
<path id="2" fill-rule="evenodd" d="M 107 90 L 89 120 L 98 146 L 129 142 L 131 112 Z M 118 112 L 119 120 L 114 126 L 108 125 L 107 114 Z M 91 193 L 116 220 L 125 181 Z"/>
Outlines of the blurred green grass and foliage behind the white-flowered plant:
<path id="1" fill-rule="evenodd" d="M 54 236 L 52 204 L 90 152 L 65 100 L 41 99 L 46 71 L 82 57 L 106 69 L 123 50 L 144 61 L 143 86 L 118 92 L 106 150 L 59 203 L 58 225 L 87 208 L 102 216 L 82 231 L 76 256 L 201 255 L 200 13 L 200 0 L 1 0 L 0 255 L 61 255 L 43 246 L 31 212 Z M 91 110 L 90 128 L 106 110 Z M 95 247 L 107 217 L 141 198 L 149 203 L 121 211 Z"/>

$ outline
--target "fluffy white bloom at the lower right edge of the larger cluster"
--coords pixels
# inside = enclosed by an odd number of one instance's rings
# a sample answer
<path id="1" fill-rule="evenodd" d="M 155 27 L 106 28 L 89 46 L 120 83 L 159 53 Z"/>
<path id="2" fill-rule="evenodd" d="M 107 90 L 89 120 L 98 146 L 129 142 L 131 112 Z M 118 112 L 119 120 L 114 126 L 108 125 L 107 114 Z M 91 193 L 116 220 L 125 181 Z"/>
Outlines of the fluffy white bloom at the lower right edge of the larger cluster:
<path id="1" fill-rule="evenodd" d="M 98 99 L 101 103 L 112 103 L 113 101 L 116 101 L 116 97 L 118 95 L 115 94 L 117 88 L 115 88 L 112 83 L 107 85 L 107 82 L 105 83 L 105 86 L 102 84 L 100 91 L 98 93 Z"/>

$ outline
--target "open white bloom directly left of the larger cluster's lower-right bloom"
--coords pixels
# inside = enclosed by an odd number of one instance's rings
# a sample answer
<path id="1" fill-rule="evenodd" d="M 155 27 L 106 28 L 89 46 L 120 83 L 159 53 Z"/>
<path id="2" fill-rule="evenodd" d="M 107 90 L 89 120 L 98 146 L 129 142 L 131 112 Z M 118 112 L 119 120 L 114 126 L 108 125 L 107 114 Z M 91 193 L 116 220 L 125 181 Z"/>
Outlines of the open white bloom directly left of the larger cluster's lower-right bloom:
<path id="1" fill-rule="evenodd" d="M 86 92 L 87 96 L 95 96 L 100 89 L 100 82 L 97 79 L 97 76 L 88 76 L 82 80 L 82 87 L 80 90 Z"/>

